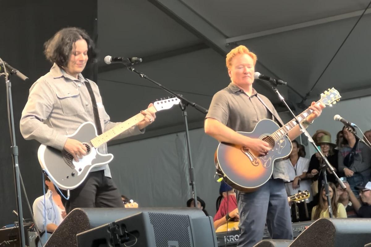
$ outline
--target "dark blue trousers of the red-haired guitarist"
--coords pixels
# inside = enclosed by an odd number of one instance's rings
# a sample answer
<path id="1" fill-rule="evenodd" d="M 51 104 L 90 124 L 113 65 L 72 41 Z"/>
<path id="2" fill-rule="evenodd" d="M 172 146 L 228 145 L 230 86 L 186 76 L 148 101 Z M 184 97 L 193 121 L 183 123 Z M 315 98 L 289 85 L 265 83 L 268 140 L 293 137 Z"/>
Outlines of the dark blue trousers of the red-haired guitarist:
<path id="1" fill-rule="evenodd" d="M 293 239 L 285 184 L 269 179 L 251 193 L 237 192 L 241 236 L 237 247 L 251 247 L 263 238 L 265 223 L 273 239 Z"/>

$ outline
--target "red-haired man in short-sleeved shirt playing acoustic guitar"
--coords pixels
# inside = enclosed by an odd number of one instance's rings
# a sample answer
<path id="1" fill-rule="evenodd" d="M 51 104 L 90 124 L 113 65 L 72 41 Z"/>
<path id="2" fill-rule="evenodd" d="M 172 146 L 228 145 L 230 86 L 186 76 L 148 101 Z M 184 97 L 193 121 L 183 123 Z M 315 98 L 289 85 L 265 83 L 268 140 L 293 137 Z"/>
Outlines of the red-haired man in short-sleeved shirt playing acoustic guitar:
<path id="1" fill-rule="evenodd" d="M 236 132 L 251 132 L 262 119 L 282 123 L 269 99 L 253 89 L 256 60 L 256 55 L 245 46 L 238 46 L 227 54 L 226 65 L 231 83 L 214 95 L 205 120 L 205 133 L 218 141 L 237 144 L 264 155 L 270 150 L 268 143 Z M 324 107 L 313 102 L 309 107 L 313 113 L 302 124 L 308 127 Z M 295 126 L 288 137 L 293 140 L 300 133 L 299 126 Z M 285 167 L 275 165 L 272 178 L 256 191 L 237 191 L 241 230 L 237 246 L 253 246 L 262 240 L 265 223 L 272 238 L 293 238 L 284 181 L 289 181 Z"/>

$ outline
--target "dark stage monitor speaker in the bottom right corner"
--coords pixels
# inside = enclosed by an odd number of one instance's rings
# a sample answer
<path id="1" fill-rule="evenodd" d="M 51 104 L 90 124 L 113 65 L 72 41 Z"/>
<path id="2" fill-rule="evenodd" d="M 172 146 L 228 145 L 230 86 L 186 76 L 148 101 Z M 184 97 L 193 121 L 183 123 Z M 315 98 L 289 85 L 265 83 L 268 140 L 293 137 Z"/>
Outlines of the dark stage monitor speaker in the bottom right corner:
<path id="1" fill-rule="evenodd" d="M 349 247 L 371 242 L 371 219 L 321 218 L 305 229 L 290 247 Z"/>

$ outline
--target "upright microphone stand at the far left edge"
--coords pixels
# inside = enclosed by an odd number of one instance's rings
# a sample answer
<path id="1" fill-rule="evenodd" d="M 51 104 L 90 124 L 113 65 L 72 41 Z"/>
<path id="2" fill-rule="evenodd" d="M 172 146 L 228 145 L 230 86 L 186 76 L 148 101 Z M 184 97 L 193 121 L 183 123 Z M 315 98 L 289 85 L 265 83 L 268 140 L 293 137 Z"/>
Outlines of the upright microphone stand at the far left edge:
<path id="1" fill-rule="evenodd" d="M 0 59 L 0 61 L 2 61 Z M 20 171 L 18 164 L 18 146 L 16 145 L 16 134 L 14 128 L 14 114 L 13 114 L 13 101 L 12 101 L 12 83 L 8 77 L 8 73 L 4 70 L 0 76 L 5 77 L 5 83 L 7 88 L 7 107 L 8 107 L 8 118 L 10 127 L 10 137 L 12 141 L 12 146 L 10 147 L 11 155 L 13 156 L 13 168 L 14 168 L 14 184 L 16 188 L 16 201 L 17 201 L 17 211 L 18 211 L 18 222 L 19 222 L 19 236 L 20 244 L 22 247 L 25 246 L 25 236 L 24 236 L 24 226 L 23 226 L 23 210 L 22 210 L 22 194 L 20 187 Z"/>

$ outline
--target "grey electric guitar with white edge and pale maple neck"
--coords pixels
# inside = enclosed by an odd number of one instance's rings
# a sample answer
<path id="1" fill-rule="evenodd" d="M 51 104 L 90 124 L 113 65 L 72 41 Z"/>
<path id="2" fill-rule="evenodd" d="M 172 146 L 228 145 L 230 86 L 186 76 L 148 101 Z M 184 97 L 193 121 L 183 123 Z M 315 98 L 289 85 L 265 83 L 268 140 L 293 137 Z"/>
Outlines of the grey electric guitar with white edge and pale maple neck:
<path id="1" fill-rule="evenodd" d="M 147 110 L 153 112 L 166 110 L 179 103 L 180 100 L 176 97 L 161 99 L 155 101 L 153 106 Z M 85 122 L 78 127 L 75 133 L 67 137 L 81 141 L 87 149 L 86 155 L 80 158 L 79 162 L 76 162 L 72 155 L 65 150 L 59 151 L 53 147 L 40 145 L 37 156 L 41 168 L 56 186 L 63 190 L 72 190 L 85 180 L 93 167 L 104 166 L 113 159 L 112 154 L 101 154 L 97 148 L 143 119 L 144 115 L 138 113 L 99 136 L 95 125 L 92 122 Z"/>

